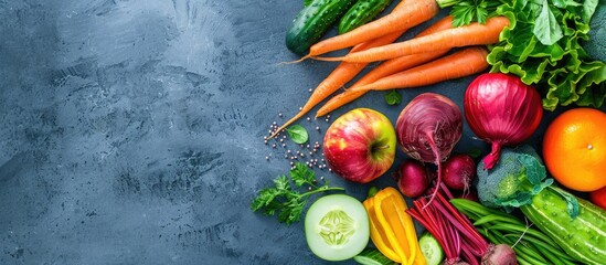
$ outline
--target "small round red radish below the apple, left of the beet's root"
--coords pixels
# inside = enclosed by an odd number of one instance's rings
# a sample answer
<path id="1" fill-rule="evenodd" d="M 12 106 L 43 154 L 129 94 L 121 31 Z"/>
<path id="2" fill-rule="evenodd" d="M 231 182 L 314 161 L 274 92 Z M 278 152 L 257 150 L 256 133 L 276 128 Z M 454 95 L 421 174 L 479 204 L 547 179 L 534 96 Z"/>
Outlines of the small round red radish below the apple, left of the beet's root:
<path id="1" fill-rule="evenodd" d="M 394 172 L 397 188 L 405 197 L 417 198 L 429 187 L 429 172 L 417 160 L 404 161 Z"/>

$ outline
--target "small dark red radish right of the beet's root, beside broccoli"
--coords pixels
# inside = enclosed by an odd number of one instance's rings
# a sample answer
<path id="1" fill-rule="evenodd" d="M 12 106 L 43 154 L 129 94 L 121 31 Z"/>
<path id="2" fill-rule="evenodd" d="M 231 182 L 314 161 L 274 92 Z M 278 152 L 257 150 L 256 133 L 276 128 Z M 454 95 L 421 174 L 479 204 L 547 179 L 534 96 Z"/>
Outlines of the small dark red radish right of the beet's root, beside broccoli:
<path id="1" fill-rule="evenodd" d="M 476 177 L 476 162 L 467 155 L 455 155 L 444 163 L 444 183 L 449 189 L 467 192 L 474 177 Z"/>

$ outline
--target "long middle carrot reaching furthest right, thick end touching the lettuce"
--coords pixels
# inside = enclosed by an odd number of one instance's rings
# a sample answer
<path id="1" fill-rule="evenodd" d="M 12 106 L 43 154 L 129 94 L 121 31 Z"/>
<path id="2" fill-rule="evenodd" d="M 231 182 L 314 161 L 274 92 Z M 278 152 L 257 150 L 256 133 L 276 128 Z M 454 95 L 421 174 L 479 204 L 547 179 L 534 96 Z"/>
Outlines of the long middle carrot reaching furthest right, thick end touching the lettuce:
<path id="1" fill-rule="evenodd" d="M 369 63 L 410 54 L 424 53 L 444 49 L 487 45 L 499 42 L 501 31 L 509 25 L 506 17 L 495 17 L 486 24 L 471 23 L 468 25 L 439 31 L 423 38 L 373 47 L 361 52 L 350 53 L 342 57 L 315 57 L 321 61 L 345 61 Z"/>

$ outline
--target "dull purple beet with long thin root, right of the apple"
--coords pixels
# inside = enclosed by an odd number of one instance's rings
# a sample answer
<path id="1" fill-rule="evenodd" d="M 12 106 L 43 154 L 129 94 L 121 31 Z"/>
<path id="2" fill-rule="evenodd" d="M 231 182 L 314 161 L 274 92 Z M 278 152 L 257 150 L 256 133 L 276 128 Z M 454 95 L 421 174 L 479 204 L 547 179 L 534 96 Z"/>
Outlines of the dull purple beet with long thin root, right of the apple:
<path id="1" fill-rule="evenodd" d="M 397 141 L 406 155 L 438 167 L 437 186 L 442 183 L 442 162 L 448 158 L 463 135 L 459 107 L 445 96 L 424 93 L 400 113 L 395 125 Z M 435 198 L 433 192 L 429 203 Z"/>

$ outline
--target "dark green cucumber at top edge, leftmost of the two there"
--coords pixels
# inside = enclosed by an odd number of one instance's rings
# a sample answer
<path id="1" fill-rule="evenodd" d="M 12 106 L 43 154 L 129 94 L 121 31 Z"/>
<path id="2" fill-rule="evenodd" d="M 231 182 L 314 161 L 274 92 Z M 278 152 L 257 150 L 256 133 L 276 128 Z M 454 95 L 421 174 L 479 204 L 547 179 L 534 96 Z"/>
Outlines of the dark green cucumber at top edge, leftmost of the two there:
<path id="1" fill-rule="evenodd" d="M 286 46 L 298 55 L 315 44 L 341 18 L 354 0 L 313 0 L 305 7 L 286 33 Z"/>

